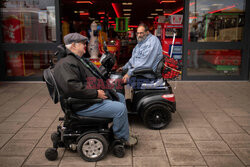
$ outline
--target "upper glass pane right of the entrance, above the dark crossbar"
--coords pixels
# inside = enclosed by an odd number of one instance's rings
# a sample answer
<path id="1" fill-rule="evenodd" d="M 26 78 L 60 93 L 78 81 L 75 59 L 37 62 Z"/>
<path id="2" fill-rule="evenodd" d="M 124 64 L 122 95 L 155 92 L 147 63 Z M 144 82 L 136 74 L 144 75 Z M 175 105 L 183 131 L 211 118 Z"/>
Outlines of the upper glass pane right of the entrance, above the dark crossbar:
<path id="1" fill-rule="evenodd" d="M 191 0 L 189 41 L 241 41 L 245 25 L 245 0 Z"/>

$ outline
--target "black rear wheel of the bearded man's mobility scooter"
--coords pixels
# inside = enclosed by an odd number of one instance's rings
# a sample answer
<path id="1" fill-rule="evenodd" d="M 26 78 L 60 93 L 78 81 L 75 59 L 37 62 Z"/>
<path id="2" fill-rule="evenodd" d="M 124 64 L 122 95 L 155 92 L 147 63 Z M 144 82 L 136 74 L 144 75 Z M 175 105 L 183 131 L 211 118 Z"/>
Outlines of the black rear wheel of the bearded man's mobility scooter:
<path id="1" fill-rule="evenodd" d="M 143 113 L 143 122 L 150 129 L 165 128 L 172 120 L 170 109 L 163 104 L 152 104 Z"/>

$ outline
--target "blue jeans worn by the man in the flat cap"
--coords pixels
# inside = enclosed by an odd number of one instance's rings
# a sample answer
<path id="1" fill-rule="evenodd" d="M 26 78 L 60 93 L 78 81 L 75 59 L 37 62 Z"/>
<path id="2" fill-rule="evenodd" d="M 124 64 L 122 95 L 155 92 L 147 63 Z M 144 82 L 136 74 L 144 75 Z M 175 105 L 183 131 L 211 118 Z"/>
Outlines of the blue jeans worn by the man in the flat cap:
<path id="1" fill-rule="evenodd" d="M 96 103 L 89 108 L 78 111 L 76 114 L 90 117 L 113 118 L 113 132 L 115 137 L 128 140 L 128 114 L 125 102 L 125 97 L 121 93 L 117 93 L 119 101 L 103 100 L 101 103 Z"/>

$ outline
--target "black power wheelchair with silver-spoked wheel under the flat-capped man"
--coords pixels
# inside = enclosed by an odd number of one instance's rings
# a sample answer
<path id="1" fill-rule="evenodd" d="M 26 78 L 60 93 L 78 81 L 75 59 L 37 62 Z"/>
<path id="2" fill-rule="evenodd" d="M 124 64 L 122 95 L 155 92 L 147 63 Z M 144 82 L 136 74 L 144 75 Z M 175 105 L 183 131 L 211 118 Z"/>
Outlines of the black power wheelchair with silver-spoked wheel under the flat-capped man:
<path id="1" fill-rule="evenodd" d="M 53 102 L 60 102 L 65 114 L 59 118 L 63 125 L 59 125 L 57 131 L 51 134 L 53 148 L 48 148 L 45 152 L 48 160 L 58 157 L 59 147 L 77 151 L 82 159 L 90 162 L 103 159 L 108 150 L 119 158 L 125 155 L 124 141 L 115 139 L 112 126 L 109 126 L 111 118 L 83 117 L 74 114 L 74 111 L 80 110 L 81 104 L 94 104 L 102 102 L 102 99 L 64 98 L 57 87 L 52 67 L 44 70 L 43 78 Z"/>

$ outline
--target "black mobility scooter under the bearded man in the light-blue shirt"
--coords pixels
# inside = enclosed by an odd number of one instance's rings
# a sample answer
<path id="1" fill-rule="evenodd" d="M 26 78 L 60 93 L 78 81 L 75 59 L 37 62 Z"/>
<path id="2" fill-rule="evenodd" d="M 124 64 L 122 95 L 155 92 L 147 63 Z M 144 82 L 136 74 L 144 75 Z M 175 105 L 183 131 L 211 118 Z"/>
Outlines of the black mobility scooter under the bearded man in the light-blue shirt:
<path id="1" fill-rule="evenodd" d="M 112 71 L 114 58 L 107 50 L 104 43 L 105 53 L 102 55 L 100 62 L 100 71 L 119 88 L 121 86 L 122 74 Z M 162 77 L 162 72 L 166 72 L 165 58 L 159 62 L 156 71 L 150 69 L 138 69 L 131 76 L 130 85 L 131 98 L 127 100 L 129 113 L 138 113 L 144 124 L 150 129 L 162 129 L 166 127 L 172 119 L 172 113 L 176 111 L 175 96 L 170 84 Z M 169 71 L 169 70 L 168 70 Z M 144 74 L 150 74 L 146 78 Z M 123 92 L 124 90 L 116 89 Z"/>

